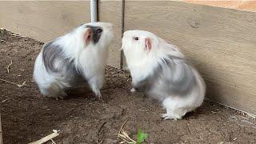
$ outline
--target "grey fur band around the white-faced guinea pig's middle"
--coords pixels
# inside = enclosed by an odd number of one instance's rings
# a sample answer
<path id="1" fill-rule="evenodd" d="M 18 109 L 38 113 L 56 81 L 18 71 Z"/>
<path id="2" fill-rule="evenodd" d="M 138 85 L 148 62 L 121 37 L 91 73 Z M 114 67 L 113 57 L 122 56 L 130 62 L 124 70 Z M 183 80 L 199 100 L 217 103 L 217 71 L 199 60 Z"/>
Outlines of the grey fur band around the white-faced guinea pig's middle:
<path id="1" fill-rule="evenodd" d="M 163 100 L 170 96 L 186 96 L 197 82 L 192 66 L 182 58 L 170 56 L 154 70 L 153 74 L 134 85 L 138 91 Z"/>

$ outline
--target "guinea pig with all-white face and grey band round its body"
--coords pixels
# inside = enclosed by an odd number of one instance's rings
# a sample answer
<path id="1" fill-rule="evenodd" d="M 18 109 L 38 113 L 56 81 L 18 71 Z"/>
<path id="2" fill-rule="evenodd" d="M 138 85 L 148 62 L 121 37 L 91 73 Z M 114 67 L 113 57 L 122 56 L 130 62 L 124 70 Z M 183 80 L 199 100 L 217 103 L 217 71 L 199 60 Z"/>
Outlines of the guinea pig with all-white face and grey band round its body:
<path id="1" fill-rule="evenodd" d="M 182 119 L 202 105 L 206 84 L 177 46 L 148 31 L 128 30 L 122 50 L 134 86 L 131 91 L 161 102 L 166 110 L 162 118 Z"/>

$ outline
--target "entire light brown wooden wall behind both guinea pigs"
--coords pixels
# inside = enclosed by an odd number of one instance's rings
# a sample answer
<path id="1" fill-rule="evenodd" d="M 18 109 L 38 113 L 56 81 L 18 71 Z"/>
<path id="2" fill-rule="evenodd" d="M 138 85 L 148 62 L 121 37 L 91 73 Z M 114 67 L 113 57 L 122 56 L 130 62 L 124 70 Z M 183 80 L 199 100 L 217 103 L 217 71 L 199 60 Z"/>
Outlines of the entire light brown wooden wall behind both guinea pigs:
<path id="1" fill-rule="evenodd" d="M 109 64 L 119 67 L 122 1 L 99 1 L 114 23 Z M 0 27 L 46 42 L 90 22 L 90 1 L 1 2 Z M 207 97 L 256 114 L 256 13 L 174 1 L 126 0 L 125 30 L 149 30 L 173 42 L 202 73 Z"/>

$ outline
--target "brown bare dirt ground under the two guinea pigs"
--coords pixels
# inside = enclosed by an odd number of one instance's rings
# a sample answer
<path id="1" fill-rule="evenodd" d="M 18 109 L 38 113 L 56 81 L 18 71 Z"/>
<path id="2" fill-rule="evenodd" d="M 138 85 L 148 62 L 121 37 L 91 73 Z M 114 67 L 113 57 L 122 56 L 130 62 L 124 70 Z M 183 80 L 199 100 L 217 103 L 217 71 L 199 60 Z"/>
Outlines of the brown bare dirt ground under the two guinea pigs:
<path id="1" fill-rule="evenodd" d="M 130 94 L 129 74 L 108 66 L 102 89 L 105 102 L 94 100 L 84 87 L 65 100 L 42 98 L 32 79 L 34 59 L 42 42 L 0 31 L 0 104 L 3 141 L 36 141 L 60 130 L 56 143 L 118 143 L 122 124 L 131 138 L 139 128 L 147 143 L 256 143 L 256 121 L 216 103 L 205 101 L 182 120 L 163 121 L 161 106 L 143 94 Z M 10 65 L 10 73 L 6 67 Z M 17 84 L 26 81 L 27 86 Z M 100 129 L 101 128 L 101 129 Z"/>

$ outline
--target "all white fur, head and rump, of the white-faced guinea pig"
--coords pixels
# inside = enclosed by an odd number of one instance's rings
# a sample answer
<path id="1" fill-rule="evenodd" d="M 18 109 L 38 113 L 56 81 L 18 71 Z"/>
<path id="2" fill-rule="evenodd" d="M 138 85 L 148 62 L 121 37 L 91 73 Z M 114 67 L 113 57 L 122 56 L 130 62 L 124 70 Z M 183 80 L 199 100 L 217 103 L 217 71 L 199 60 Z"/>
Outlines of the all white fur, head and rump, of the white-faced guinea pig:
<path id="1" fill-rule="evenodd" d="M 138 41 L 134 40 L 135 37 L 138 37 Z M 146 50 L 145 38 L 150 38 L 151 50 Z M 167 58 L 168 55 L 184 58 L 176 46 L 143 30 L 126 31 L 122 38 L 122 50 L 126 56 L 133 84 L 153 74 L 155 68 L 163 64 L 162 59 Z M 162 114 L 162 118 L 180 119 L 187 112 L 202 105 L 206 92 L 205 82 L 197 70 L 193 68 L 192 71 L 198 86 L 195 86 L 188 95 L 168 95 L 167 98 L 163 99 L 162 106 L 166 109 L 166 114 Z"/>

